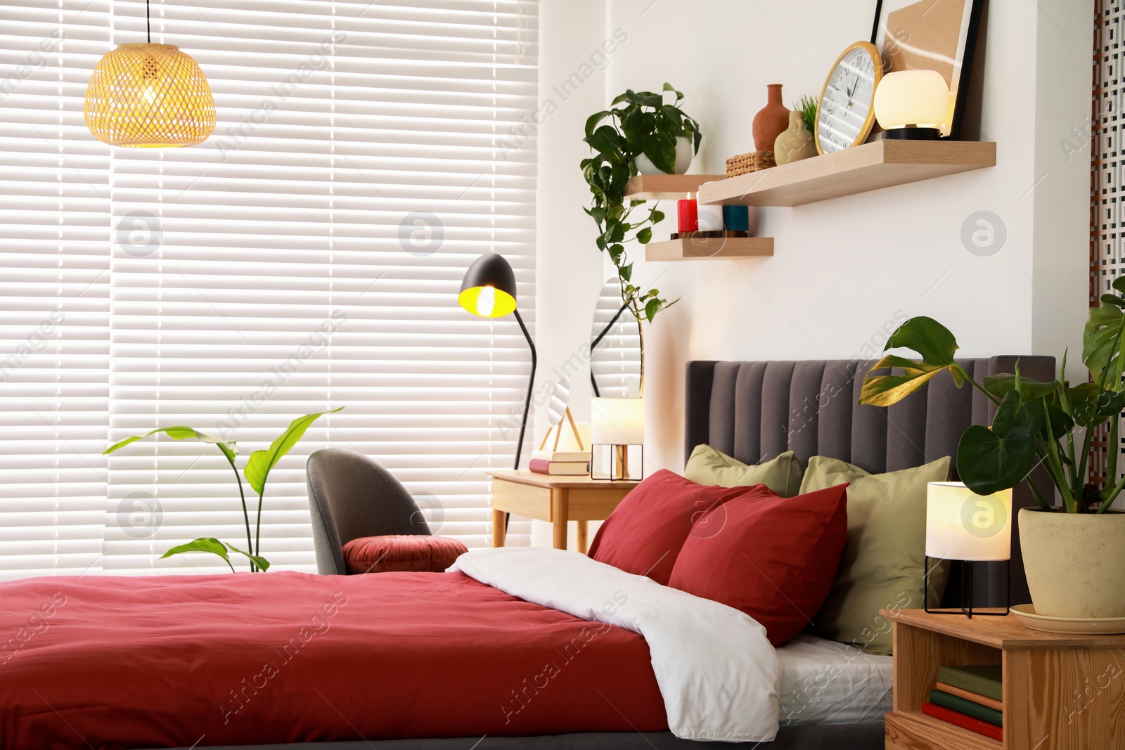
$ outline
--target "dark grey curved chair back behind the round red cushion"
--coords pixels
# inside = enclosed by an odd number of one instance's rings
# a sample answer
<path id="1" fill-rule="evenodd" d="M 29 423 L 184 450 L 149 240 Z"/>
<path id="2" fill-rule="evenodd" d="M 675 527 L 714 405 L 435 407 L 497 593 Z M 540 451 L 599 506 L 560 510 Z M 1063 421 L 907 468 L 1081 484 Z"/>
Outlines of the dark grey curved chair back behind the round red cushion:
<path id="1" fill-rule="evenodd" d="M 334 448 L 308 457 L 308 509 L 313 516 L 316 571 L 346 576 L 343 546 L 363 536 L 430 536 L 411 494 L 371 459 Z"/>

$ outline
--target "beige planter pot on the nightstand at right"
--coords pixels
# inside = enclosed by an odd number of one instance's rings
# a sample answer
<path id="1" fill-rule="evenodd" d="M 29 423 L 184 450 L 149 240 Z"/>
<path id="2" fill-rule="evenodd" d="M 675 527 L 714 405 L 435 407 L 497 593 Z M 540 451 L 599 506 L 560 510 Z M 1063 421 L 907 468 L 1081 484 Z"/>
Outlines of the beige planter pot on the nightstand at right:
<path id="1" fill-rule="evenodd" d="M 1125 513 L 1020 508 L 1019 542 L 1037 614 L 1125 617 Z"/>

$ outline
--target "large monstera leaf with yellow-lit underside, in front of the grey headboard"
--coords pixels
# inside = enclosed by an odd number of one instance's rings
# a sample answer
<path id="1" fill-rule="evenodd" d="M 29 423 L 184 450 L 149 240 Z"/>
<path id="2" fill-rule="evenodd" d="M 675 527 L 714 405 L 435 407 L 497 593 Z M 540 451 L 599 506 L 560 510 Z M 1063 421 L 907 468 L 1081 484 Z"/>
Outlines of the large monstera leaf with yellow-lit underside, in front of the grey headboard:
<path id="1" fill-rule="evenodd" d="M 863 390 L 860 403 L 872 406 L 891 406 L 925 386 L 932 378 L 948 370 L 957 388 L 964 385 L 964 371 L 953 361 L 957 351 L 957 341 L 934 318 L 925 316 L 908 319 L 900 325 L 886 341 L 888 349 L 910 349 L 921 356 L 921 360 L 909 360 L 890 354 L 884 356 L 863 379 Z M 902 374 L 873 376 L 871 372 L 888 368 L 901 368 Z"/>

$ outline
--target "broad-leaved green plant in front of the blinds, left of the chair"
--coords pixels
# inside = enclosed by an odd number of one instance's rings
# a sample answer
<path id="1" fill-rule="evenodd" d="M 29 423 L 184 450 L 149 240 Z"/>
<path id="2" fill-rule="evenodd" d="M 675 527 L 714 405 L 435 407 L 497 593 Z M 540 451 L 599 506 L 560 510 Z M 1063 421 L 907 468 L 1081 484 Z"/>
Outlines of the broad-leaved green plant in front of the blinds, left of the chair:
<path id="1" fill-rule="evenodd" d="M 204 443 L 214 444 L 222 453 L 223 457 L 231 464 L 231 469 L 234 470 L 234 478 L 238 482 L 238 496 L 242 499 L 242 518 L 246 525 L 246 550 L 243 551 L 233 544 L 226 542 L 220 542 L 214 536 L 202 536 L 187 544 L 180 544 L 173 546 L 163 555 L 161 559 L 171 557 L 173 554 L 180 554 L 182 552 L 210 552 L 212 554 L 217 554 L 223 558 L 223 560 L 231 567 L 231 571 L 234 571 L 234 564 L 231 562 L 228 552 L 237 552 L 238 554 L 245 555 L 250 560 L 251 572 L 264 571 L 270 567 L 269 561 L 261 557 L 261 533 L 262 533 L 262 500 L 266 496 L 266 480 L 269 478 L 270 470 L 277 466 L 277 462 L 288 453 L 294 445 L 305 435 L 305 431 L 308 430 L 314 422 L 325 414 L 334 414 L 342 409 L 332 409 L 330 412 L 318 412 L 316 414 L 306 414 L 303 417 L 298 417 L 289 423 L 289 426 L 282 432 L 277 439 L 270 443 L 270 446 L 260 451 L 254 451 L 250 454 L 250 459 L 246 461 L 246 466 L 242 470 L 242 475 L 238 473 L 238 467 L 235 463 L 235 459 L 238 455 L 238 449 L 234 441 L 223 440 L 222 437 L 215 437 L 214 435 L 207 435 L 192 427 L 159 427 L 152 432 L 147 432 L 143 435 L 133 435 L 132 437 L 126 437 L 119 443 L 114 443 L 107 448 L 102 455 L 107 455 L 115 451 L 118 451 L 126 445 L 137 442 L 138 440 L 144 440 L 150 435 L 155 435 L 163 433 L 171 437 L 172 440 L 198 440 Z M 258 493 L 258 513 L 256 521 L 254 524 L 254 533 L 251 535 L 250 531 L 250 510 L 246 507 L 246 493 L 243 489 L 242 476 L 245 475 L 246 482 L 250 487 Z"/>

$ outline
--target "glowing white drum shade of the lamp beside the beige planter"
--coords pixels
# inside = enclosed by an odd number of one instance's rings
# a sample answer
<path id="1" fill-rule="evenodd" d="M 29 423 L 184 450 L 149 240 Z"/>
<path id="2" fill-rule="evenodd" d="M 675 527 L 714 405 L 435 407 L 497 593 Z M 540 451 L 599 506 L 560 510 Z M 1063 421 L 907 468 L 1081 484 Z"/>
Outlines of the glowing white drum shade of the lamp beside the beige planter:
<path id="1" fill-rule="evenodd" d="M 1009 560 L 1011 490 L 986 496 L 960 481 L 929 482 L 926 554 L 943 560 Z"/>

